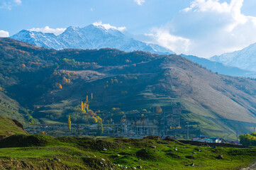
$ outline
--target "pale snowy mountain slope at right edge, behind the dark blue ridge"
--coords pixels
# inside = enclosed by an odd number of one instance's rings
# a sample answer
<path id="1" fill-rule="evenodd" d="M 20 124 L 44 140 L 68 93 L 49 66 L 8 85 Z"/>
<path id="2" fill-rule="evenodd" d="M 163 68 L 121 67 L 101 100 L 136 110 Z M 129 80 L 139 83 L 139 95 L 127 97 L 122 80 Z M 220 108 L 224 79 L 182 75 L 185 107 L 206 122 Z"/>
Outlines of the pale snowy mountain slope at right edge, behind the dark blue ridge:
<path id="1" fill-rule="evenodd" d="M 256 43 L 245 47 L 243 50 L 213 56 L 211 57 L 211 60 L 255 72 Z"/>

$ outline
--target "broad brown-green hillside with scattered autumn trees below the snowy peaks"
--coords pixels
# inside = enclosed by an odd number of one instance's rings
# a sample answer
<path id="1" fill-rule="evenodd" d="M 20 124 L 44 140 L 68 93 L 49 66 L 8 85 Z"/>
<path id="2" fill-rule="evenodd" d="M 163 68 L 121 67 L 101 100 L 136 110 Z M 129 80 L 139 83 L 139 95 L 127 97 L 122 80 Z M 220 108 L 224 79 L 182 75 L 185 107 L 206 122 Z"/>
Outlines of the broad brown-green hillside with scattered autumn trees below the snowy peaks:
<path id="1" fill-rule="evenodd" d="M 192 134 L 230 139 L 236 132 L 250 132 L 256 121 L 255 80 L 216 74 L 181 56 L 47 50 L 10 38 L 0 43 L 0 73 L 13 80 L 4 79 L 6 94 L 41 122 L 66 122 L 71 115 L 72 122 L 88 123 L 77 108 L 91 93 L 89 108 L 106 120 L 123 114 L 113 108 L 153 111 L 161 106 L 169 111 L 181 105 L 182 130 L 189 121 Z"/>

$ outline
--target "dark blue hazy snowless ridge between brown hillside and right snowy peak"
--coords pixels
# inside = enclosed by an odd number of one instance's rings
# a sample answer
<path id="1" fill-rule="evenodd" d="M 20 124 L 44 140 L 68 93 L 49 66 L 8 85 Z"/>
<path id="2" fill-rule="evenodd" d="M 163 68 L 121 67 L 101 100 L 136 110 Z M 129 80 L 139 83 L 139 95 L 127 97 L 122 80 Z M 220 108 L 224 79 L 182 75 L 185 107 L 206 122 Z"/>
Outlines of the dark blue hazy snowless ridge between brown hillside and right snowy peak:
<path id="1" fill-rule="evenodd" d="M 256 77 L 256 72 L 239 69 L 238 67 L 230 67 L 228 65 L 222 64 L 221 62 L 213 62 L 211 60 L 196 57 L 193 55 L 182 55 L 182 57 L 185 57 L 192 62 L 196 62 L 199 65 L 202 65 L 202 67 L 210 69 L 212 72 L 218 72 L 218 74 L 225 74 L 235 77 Z"/>

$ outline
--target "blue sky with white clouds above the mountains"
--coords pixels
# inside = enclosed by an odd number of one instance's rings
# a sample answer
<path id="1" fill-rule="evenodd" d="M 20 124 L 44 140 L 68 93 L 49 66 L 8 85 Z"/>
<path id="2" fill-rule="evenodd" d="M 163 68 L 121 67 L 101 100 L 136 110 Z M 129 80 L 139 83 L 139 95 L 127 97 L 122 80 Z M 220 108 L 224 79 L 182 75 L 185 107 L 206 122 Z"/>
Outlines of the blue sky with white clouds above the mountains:
<path id="1" fill-rule="evenodd" d="M 0 0 L 0 36 L 97 22 L 178 54 L 211 57 L 256 42 L 255 8 L 255 0 Z"/>

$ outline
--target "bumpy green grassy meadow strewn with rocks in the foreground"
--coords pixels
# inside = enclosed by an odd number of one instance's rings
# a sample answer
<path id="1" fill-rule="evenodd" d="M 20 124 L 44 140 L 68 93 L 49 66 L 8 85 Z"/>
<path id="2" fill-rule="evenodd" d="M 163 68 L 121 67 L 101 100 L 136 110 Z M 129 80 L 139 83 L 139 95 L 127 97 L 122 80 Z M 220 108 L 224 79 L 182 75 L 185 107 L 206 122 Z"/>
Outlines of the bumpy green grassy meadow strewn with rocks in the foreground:
<path id="1" fill-rule="evenodd" d="M 13 135 L 0 147 L 0 169 L 240 169 L 256 154 L 252 147 L 198 147 L 157 137 Z"/>

